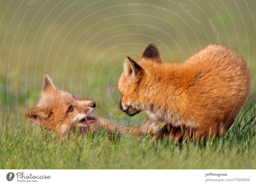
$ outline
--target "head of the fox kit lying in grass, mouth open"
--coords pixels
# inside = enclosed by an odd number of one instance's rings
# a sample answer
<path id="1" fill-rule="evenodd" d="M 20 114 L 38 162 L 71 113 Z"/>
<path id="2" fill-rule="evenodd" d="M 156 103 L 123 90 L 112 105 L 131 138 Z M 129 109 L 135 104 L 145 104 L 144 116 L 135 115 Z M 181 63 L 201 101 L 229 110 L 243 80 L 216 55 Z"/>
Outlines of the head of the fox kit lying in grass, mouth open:
<path id="1" fill-rule="evenodd" d="M 41 100 L 25 116 L 31 122 L 65 135 L 77 126 L 80 131 L 86 131 L 89 125 L 96 122 L 91 116 L 95 107 L 95 102 L 76 100 L 71 94 L 58 90 L 45 75 Z"/>

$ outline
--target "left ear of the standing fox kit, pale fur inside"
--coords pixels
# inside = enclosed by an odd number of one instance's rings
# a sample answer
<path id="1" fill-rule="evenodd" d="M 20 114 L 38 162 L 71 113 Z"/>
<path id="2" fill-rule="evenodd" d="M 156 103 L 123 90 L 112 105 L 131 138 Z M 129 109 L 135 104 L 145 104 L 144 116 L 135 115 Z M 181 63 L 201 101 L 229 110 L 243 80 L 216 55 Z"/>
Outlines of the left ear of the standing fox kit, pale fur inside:
<path id="1" fill-rule="evenodd" d="M 140 73 L 142 67 L 132 60 L 129 56 L 127 56 L 124 60 L 124 71 L 126 76 L 134 78 L 136 75 Z"/>

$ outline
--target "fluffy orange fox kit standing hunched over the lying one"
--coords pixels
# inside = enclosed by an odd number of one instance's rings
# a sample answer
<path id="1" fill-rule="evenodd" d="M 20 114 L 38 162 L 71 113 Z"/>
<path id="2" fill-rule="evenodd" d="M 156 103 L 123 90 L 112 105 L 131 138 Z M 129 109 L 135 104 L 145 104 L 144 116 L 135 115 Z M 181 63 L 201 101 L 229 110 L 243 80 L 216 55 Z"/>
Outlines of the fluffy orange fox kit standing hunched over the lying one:
<path id="1" fill-rule="evenodd" d="M 127 57 L 119 79 L 119 109 L 146 111 L 141 132 L 206 138 L 224 133 L 247 98 L 250 76 L 234 51 L 209 45 L 184 63 L 163 63 L 149 44 L 138 63 Z"/>

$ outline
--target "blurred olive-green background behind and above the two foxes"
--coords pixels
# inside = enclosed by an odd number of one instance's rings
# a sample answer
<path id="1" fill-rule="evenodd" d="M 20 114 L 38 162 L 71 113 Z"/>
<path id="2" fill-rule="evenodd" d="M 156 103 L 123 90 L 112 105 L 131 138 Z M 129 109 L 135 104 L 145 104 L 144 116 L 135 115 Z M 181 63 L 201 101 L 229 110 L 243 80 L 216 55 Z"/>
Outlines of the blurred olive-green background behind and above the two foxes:
<path id="1" fill-rule="evenodd" d="M 144 113 L 132 118 L 120 113 L 116 87 L 124 58 L 138 60 L 152 42 L 165 62 L 183 62 L 219 42 L 240 50 L 254 77 L 255 8 L 256 1 L 232 0 L 1 1 L 1 114 L 23 119 L 48 74 L 72 94 L 97 97 L 100 116 L 118 122 L 143 118 Z M 252 101 L 253 85 L 251 90 Z"/>

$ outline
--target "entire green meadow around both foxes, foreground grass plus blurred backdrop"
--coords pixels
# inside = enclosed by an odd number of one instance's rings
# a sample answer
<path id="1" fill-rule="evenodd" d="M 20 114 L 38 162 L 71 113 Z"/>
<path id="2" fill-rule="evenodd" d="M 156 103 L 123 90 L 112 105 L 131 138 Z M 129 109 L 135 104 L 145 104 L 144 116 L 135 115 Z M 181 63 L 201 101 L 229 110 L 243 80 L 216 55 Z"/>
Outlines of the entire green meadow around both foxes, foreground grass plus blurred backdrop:
<path id="1" fill-rule="evenodd" d="M 256 168 L 256 2 L 134 3 L 0 1 L 1 169 Z M 60 89 L 95 100 L 95 115 L 142 124 L 145 112 L 128 117 L 118 110 L 117 81 L 124 58 L 139 59 L 152 42 L 164 62 L 184 62 L 212 43 L 245 59 L 250 94 L 226 135 L 178 145 L 131 134 L 108 138 L 101 130 L 60 141 L 56 133 L 26 120 L 48 74 Z"/>

